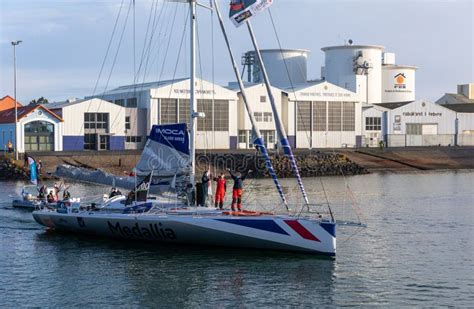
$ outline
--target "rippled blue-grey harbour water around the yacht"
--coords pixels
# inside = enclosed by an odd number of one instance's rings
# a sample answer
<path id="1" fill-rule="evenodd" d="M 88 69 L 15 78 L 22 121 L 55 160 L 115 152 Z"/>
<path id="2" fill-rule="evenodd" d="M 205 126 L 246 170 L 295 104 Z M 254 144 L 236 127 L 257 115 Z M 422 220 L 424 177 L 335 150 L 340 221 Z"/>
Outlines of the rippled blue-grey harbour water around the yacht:
<path id="1" fill-rule="evenodd" d="M 473 171 L 322 183 L 338 219 L 367 224 L 338 228 L 336 259 L 60 234 L 11 207 L 23 183 L 1 182 L 0 307 L 474 306 Z M 323 199 L 320 179 L 305 184 Z M 270 181 L 248 185 L 249 205 L 276 207 Z M 71 187 L 83 199 L 107 190 Z"/>

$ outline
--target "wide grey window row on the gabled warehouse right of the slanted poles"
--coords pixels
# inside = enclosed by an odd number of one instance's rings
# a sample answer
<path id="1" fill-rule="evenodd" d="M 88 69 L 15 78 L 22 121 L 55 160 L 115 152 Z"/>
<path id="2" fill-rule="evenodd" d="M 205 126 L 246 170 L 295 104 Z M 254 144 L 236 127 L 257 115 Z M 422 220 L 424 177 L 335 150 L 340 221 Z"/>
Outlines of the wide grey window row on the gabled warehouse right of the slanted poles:
<path id="1" fill-rule="evenodd" d="M 355 102 L 296 103 L 298 131 L 355 131 Z"/>

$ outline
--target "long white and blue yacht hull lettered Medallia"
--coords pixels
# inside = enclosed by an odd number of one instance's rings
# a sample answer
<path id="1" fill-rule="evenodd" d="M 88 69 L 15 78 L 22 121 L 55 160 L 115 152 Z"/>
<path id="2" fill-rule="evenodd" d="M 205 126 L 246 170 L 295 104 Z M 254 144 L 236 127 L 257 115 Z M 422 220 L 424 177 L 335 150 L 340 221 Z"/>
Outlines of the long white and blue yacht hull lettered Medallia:
<path id="1" fill-rule="evenodd" d="M 200 215 L 58 213 L 35 211 L 35 220 L 57 230 L 105 237 L 296 251 L 334 256 L 335 224 L 290 216 L 239 217 L 209 211 Z"/>

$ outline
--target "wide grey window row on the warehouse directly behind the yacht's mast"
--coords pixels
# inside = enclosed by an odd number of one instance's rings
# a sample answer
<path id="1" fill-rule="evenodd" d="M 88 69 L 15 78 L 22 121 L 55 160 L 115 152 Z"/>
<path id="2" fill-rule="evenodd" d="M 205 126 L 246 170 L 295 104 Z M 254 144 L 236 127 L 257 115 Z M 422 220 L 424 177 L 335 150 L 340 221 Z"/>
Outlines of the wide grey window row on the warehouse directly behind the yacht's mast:
<path id="1" fill-rule="evenodd" d="M 214 106 L 214 109 L 212 108 Z M 198 131 L 228 131 L 229 101 L 197 100 L 198 112 L 205 113 L 205 118 L 198 118 Z M 188 99 L 161 99 L 160 123 L 186 122 L 189 124 Z"/>

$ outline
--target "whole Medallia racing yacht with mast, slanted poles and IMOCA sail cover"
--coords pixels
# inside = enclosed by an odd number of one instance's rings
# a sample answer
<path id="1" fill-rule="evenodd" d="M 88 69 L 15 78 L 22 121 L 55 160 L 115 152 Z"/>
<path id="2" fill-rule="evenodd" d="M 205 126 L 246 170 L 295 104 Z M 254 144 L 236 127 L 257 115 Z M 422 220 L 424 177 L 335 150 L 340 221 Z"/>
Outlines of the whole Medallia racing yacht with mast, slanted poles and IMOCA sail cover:
<path id="1" fill-rule="evenodd" d="M 105 236 L 119 239 L 147 240 L 163 243 L 193 244 L 225 247 L 242 247 L 280 251 L 304 252 L 318 255 L 335 256 L 336 222 L 332 211 L 311 212 L 303 183 L 298 172 L 286 134 L 278 116 L 275 102 L 270 101 L 275 112 L 275 122 L 280 144 L 292 163 L 298 185 L 304 197 L 307 210 L 298 215 L 277 215 L 258 211 L 229 211 L 195 207 L 193 190 L 195 187 L 195 135 L 197 112 L 195 98 L 195 14 L 196 1 L 187 0 L 190 5 L 191 34 L 191 79 L 190 79 L 190 125 L 186 124 L 154 125 L 145 145 L 137 171 L 145 175 L 144 180 L 132 191 L 132 196 L 120 198 L 106 207 L 85 207 L 78 204 L 64 205 L 58 209 L 39 209 L 33 212 L 34 219 L 49 228 Z M 233 5 L 231 17 L 234 22 L 247 23 L 252 41 L 259 54 L 248 17 L 263 8 L 259 1 L 241 1 Z M 268 5 L 272 1 L 260 0 Z M 235 4 L 235 1 L 232 2 Z M 239 81 L 247 112 L 253 124 L 254 145 L 265 158 L 266 167 L 278 191 L 282 205 L 289 210 L 287 199 L 276 177 L 263 139 L 256 125 L 251 106 L 248 104 L 240 74 L 225 33 L 217 1 L 214 9 L 218 13 L 221 29 L 227 43 L 234 66 L 234 73 Z M 247 12 L 247 13 L 246 13 Z M 237 16 L 237 17 L 235 17 Z M 261 57 L 259 57 L 261 61 Z M 263 62 L 261 61 L 263 67 Z M 269 89 L 268 76 L 264 78 Z M 168 173 L 174 175 L 171 183 L 175 186 L 176 176 L 185 179 L 187 185 L 180 190 L 180 197 L 175 199 L 153 199 L 148 196 L 153 184 L 153 175 Z M 117 207 L 118 206 L 118 207 Z M 277 206 L 277 205 L 275 205 Z M 244 205 L 245 208 L 245 205 Z M 289 211 L 288 211 L 289 213 Z"/>

